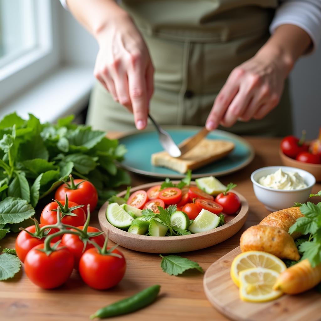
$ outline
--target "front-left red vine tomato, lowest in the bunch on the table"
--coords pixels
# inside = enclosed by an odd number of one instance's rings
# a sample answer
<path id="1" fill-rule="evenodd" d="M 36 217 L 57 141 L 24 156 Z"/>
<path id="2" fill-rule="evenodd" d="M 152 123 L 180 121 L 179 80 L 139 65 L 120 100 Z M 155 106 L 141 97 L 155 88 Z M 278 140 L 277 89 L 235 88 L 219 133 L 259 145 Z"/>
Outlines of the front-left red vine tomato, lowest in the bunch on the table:
<path id="1" fill-rule="evenodd" d="M 50 243 L 51 246 L 54 243 Z M 74 268 L 74 256 L 68 248 L 58 245 L 51 254 L 39 251 L 44 244 L 33 247 L 24 260 L 24 270 L 31 282 L 43 289 L 64 284 Z"/>

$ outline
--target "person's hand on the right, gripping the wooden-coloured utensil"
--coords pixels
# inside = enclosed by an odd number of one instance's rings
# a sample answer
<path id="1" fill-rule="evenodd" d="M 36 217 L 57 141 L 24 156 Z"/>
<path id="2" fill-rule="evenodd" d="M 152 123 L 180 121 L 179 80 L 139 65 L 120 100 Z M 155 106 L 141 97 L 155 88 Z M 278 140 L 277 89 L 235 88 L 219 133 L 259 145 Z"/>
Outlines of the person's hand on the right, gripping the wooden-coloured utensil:
<path id="1" fill-rule="evenodd" d="M 214 101 L 206 128 L 265 117 L 279 103 L 291 67 L 282 56 L 267 50 L 236 67 Z"/>

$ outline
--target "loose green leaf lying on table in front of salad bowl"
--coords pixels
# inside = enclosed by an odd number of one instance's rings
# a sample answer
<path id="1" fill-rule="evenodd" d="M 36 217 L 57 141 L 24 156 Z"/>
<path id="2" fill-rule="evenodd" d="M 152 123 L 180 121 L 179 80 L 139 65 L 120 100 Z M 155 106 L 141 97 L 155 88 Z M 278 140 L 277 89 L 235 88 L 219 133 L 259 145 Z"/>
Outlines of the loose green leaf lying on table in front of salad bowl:
<path id="1" fill-rule="evenodd" d="M 187 258 L 178 255 L 162 256 L 161 254 L 160 257 L 162 257 L 160 267 L 163 272 L 166 272 L 169 275 L 182 274 L 184 271 L 189 269 L 197 269 L 204 273 L 202 267 L 200 267 L 198 263 Z"/>

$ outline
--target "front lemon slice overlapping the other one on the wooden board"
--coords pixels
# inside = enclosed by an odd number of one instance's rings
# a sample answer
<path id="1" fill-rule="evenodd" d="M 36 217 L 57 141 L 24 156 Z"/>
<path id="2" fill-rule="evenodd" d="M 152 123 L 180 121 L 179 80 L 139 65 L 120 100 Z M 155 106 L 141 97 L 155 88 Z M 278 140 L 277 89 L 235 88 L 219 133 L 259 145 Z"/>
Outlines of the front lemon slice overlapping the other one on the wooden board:
<path id="1" fill-rule="evenodd" d="M 265 302 L 277 299 L 281 291 L 273 290 L 273 285 L 280 273 L 256 267 L 239 273 L 240 298 L 248 302 Z"/>

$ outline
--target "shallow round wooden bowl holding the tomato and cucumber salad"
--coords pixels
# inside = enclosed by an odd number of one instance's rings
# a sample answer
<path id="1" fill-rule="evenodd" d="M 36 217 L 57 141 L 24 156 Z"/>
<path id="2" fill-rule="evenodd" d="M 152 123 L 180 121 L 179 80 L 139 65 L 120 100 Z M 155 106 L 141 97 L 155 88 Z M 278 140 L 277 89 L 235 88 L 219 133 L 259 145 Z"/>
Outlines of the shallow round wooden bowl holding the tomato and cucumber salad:
<path id="1" fill-rule="evenodd" d="M 178 183 L 179 181 L 173 182 Z M 162 182 L 155 182 L 140 185 L 132 188 L 130 192 L 133 193 L 139 189 L 147 190 L 148 188 L 155 185 L 160 185 L 161 183 Z M 195 182 L 191 182 L 191 185 L 196 184 Z M 239 213 L 237 215 L 226 215 L 226 223 L 224 225 L 206 232 L 169 237 L 136 235 L 128 233 L 124 230 L 118 229 L 107 221 L 106 210 L 108 201 L 100 208 L 98 219 L 101 229 L 109 232 L 109 239 L 120 246 L 129 248 L 131 250 L 147 253 L 180 253 L 195 251 L 225 241 L 238 232 L 245 223 L 248 214 L 248 203 L 241 194 L 235 191 L 233 192 L 237 194 L 241 200 L 241 209 L 239 210 Z M 117 196 L 122 197 L 125 195 L 125 193 L 126 191 L 123 191 L 117 194 Z"/>

